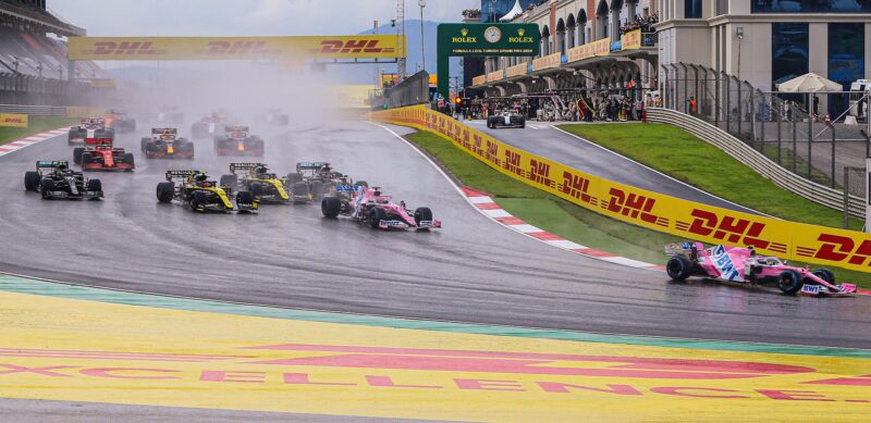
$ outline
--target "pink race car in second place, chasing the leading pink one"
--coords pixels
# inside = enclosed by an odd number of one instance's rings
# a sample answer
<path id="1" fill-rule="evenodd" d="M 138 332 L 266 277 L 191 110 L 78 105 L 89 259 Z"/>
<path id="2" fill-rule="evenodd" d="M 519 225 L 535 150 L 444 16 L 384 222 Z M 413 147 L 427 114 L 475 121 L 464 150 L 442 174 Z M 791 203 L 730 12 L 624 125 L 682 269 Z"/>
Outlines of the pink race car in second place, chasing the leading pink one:
<path id="1" fill-rule="evenodd" d="M 334 219 L 343 214 L 360 223 L 366 223 L 372 228 L 430 229 L 442 227 L 440 221 L 432 220 L 432 212 L 429 208 L 419 207 L 414 211 L 408 210 L 405 208 L 405 201 L 400 201 L 398 204 L 391 202 L 391 196 L 381 195 L 378 187 L 338 187 L 336 195 L 324 197 L 321 200 L 320 210 L 326 217 Z"/>

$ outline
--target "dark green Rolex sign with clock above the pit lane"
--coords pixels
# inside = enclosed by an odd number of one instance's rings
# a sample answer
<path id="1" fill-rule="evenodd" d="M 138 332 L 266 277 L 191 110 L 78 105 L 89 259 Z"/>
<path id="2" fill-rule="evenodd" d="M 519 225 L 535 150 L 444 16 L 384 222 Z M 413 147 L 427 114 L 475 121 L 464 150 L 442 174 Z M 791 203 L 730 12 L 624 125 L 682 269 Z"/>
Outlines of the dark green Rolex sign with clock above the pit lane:
<path id="1" fill-rule="evenodd" d="M 538 55 L 536 24 L 439 24 L 439 55 Z"/>

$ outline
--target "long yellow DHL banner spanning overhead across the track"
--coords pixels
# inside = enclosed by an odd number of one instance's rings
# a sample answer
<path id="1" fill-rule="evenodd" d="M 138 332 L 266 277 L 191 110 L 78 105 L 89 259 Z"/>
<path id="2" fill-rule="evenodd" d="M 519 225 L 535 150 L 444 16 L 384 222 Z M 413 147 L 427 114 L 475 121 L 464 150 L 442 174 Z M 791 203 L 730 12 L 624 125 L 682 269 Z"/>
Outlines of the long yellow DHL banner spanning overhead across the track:
<path id="1" fill-rule="evenodd" d="M 70 37 L 70 60 L 395 59 L 405 36 Z"/>

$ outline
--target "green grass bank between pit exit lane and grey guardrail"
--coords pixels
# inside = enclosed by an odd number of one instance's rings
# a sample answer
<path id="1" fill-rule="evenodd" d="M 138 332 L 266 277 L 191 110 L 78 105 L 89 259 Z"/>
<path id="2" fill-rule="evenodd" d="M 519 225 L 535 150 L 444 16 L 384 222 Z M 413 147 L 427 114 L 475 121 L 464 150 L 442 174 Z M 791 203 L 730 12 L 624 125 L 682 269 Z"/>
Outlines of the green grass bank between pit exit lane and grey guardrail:
<path id="1" fill-rule="evenodd" d="M 719 148 L 667 124 L 562 125 L 572 134 L 729 201 L 794 222 L 842 227 L 843 212 L 789 192 Z M 862 222 L 851 219 L 851 229 Z"/>

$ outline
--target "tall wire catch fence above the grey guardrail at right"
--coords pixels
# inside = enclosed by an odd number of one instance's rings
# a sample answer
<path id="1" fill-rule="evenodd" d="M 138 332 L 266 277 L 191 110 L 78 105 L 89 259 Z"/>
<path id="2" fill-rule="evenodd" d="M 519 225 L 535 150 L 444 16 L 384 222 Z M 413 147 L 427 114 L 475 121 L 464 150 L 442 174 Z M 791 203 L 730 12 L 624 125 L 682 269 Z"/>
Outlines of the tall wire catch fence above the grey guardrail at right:
<path id="1" fill-rule="evenodd" d="M 864 123 L 826 122 L 823 109 L 839 111 L 848 92 L 763 91 L 733 75 L 689 63 L 662 70 L 663 108 L 720 127 L 806 179 L 842 190 L 844 167 L 864 167 L 871 153 Z M 839 116 L 838 112 L 829 117 Z M 867 196 L 867 189 L 850 185 L 849 194 Z"/>

